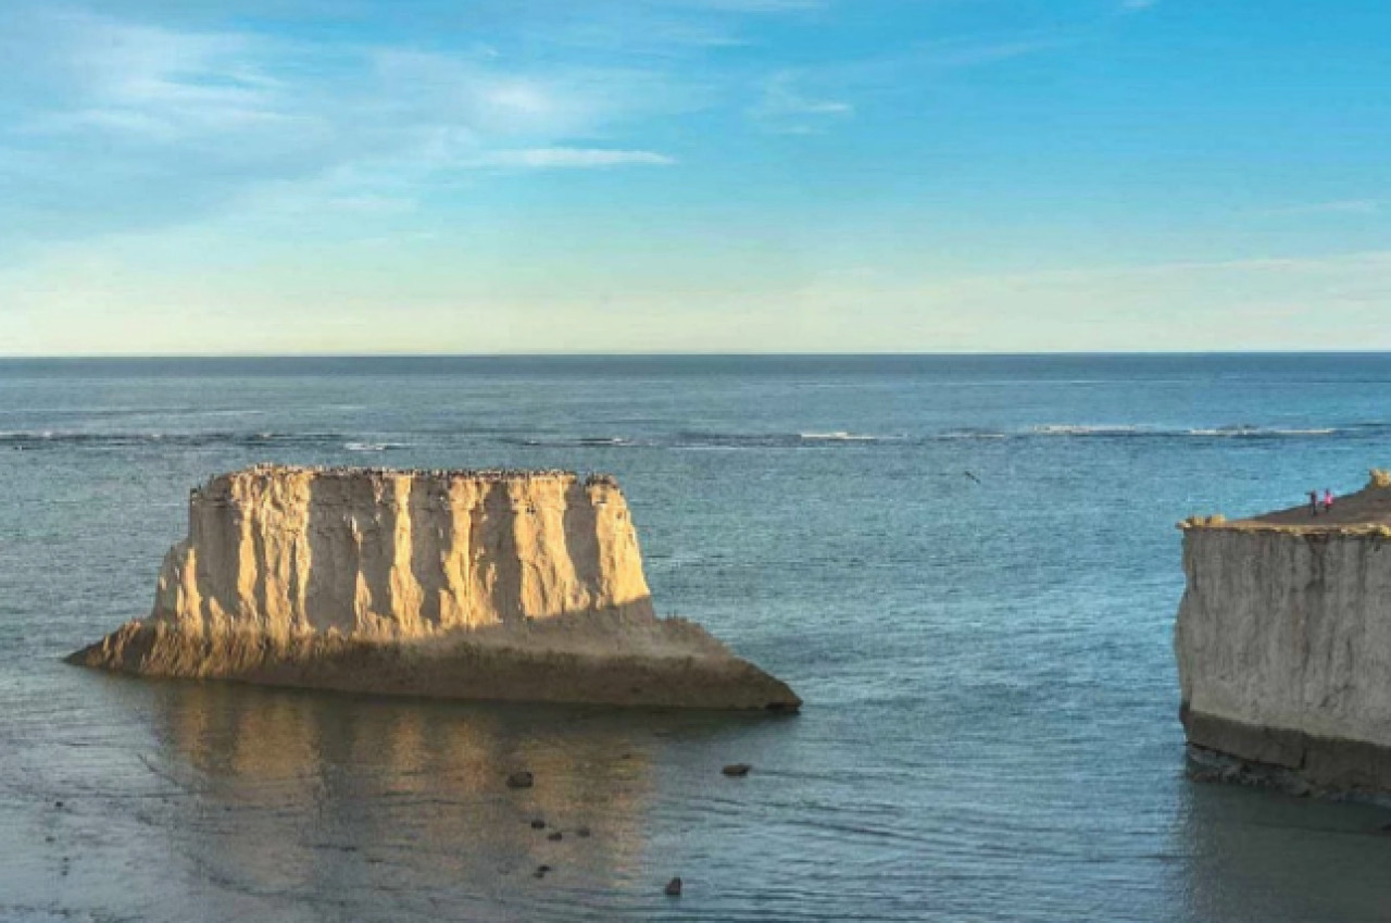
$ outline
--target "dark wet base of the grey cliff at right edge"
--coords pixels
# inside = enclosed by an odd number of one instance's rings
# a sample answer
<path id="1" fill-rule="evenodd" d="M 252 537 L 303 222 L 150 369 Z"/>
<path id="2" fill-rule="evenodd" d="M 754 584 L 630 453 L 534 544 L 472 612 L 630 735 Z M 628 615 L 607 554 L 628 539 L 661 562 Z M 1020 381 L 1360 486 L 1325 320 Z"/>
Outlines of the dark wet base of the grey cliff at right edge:
<path id="1" fill-rule="evenodd" d="M 1255 727 L 1180 710 L 1189 774 L 1200 781 L 1267 785 L 1295 795 L 1391 795 L 1391 748 Z"/>

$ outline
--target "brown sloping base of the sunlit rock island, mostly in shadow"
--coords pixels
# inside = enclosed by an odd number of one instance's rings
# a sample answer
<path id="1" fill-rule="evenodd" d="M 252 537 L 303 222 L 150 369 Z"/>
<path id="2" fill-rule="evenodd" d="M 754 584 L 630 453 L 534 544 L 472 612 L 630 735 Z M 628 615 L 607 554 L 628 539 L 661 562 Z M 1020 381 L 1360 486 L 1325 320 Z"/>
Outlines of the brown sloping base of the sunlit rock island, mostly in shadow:
<path id="1" fill-rule="evenodd" d="M 570 643 L 576 631 L 583 645 Z M 657 645 L 664 653 L 654 653 Z M 619 614 L 606 622 L 586 614 L 403 642 L 338 635 L 280 640 L 253 632 L 199 638 L 161 622 L 128 622 L 67 661 L 140 677 L 442 699 L 771 711 L 801 706 L 786 684 L 729 654 L 698 625 L 652 618 L 634 626 L 632 615 Z"/>

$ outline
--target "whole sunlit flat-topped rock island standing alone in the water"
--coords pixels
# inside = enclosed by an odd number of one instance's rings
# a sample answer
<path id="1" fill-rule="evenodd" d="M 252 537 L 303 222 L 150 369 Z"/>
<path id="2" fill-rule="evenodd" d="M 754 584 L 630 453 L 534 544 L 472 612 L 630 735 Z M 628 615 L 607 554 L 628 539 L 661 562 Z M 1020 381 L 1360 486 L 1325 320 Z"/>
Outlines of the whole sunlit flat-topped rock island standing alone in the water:
<path id="1" fill-rule="evenodd" d="M 192 491 L 152 614 L 70 663 L 441 697 L 796 710 L 658 618 L 608 476 L 260 465 Z"/>

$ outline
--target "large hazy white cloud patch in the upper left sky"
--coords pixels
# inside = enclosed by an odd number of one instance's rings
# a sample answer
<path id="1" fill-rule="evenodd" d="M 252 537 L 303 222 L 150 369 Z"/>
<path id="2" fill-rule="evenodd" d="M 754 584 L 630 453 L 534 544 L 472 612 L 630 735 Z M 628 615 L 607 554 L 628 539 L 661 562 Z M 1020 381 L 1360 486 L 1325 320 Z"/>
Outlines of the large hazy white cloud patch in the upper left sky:
<path id="1" fill-rule="evenodd" d="M 310 43 L 39 4 L 10 26 L 0 53 L 24 77 L 0 84 L 0 234 L 29 241 L 196 220 L 289 184 L 383 202 L 477 168 L 672 164 L 594 142 L 691 104 L 659 72 L 477 43 Z"/>

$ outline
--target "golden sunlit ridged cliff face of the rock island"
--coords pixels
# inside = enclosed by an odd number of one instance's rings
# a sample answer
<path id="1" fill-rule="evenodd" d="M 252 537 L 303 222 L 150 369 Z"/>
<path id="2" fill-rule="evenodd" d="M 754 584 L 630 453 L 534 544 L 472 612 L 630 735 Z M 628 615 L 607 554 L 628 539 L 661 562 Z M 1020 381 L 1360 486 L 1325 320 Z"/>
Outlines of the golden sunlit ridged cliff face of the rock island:
<path id="1" fill-rule="evenodd" d="M 609 479 L 253 468 L 193 493 L 154 617 L 198 635 L 409 639 L 615 607 L 651 603 Z"/>

